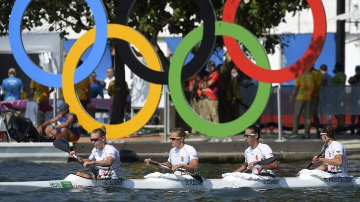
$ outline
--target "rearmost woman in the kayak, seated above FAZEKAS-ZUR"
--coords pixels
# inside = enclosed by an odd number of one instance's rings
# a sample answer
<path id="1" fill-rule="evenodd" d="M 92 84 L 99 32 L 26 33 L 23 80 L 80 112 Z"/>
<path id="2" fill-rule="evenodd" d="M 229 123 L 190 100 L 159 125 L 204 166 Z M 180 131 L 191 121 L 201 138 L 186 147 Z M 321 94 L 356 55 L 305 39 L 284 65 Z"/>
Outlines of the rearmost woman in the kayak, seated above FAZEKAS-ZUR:
<path id="1" fill-rule="evenodd" d="M 330 141 L 328 142 L 328 148 L 325 149 L 325 153 L 323 155 L 324 157 L 317 158 L 317 156 L 315 156 L 313 158 L 313 163 L 322 162 L 322 164 L 315 168 L 315 170 L 322 170 L 333 174 L 347 174 L 348 162 L 346 150 L 340 142 L 335 141 L 334 127 L 331 125 L 323 127 L 320 135 L 322 141 Z"/>

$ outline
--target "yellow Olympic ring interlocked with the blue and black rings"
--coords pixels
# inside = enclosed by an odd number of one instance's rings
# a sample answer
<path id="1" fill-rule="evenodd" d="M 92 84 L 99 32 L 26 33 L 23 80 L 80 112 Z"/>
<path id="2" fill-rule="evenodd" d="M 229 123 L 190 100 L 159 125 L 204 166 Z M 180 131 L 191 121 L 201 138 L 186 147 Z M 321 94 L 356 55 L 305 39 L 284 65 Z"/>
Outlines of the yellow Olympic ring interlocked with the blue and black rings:
<path id="1" fill-rule="evenodd" d="M 142 34 L 133 28 L 120 24 L 108 24 L 108 38 L 126 40 L 129 43 L 134 44 L 143 55 L 148 67 L 156 71 L 161 71 L 161 64 L 154 47 Z M 94 40 L 95 28 L 92 28 L 86 34 L 81 36 L 81 38 L 76 40 L 68 52 L 63 70 L 63 75 L 67 76 L 63 76 L 62 78 L 64 99 L 69 104 L 70 111 L 76 114 L 80 124 L 87 131 L 90 132 L 95 128 L 100 128 L 102 125 L 105 125 L 107 138 L 115 139 L 131 135 L 141 129 L 150 120 L 155 110 L 158 108 L 162 85 L 150 83 L 149 94 L 144 106 L 136 116 L 129 121 L 110 125 L 94 120 L 79 103 L 74 89 L 75 67 L 80 60 L 81 55 Z"/>

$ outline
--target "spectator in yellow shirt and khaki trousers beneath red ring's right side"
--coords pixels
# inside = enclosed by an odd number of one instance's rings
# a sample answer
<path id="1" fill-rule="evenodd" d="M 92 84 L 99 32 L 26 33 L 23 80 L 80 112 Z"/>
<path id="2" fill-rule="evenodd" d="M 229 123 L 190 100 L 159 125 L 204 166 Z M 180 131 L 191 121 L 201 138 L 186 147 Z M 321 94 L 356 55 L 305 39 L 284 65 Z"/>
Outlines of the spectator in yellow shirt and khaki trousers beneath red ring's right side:
<path id="1" fill-rule="evenodd" d="M 305 119 L 305 134 L 302 138 L 310 139 L 310 124 L 311 124 L 311 100 L 314 94 L 314 77 L 310 72 L 310 69 L 303 75 L 296 78 L 295 88 L 292 95 L 290 95 L 290 101 L 297 93 L 294 110 L 294 122 L 292 135 L 289 138 L 297 138 L 297 130 L 299 128 L 299 121 L 301 113 Z"/>

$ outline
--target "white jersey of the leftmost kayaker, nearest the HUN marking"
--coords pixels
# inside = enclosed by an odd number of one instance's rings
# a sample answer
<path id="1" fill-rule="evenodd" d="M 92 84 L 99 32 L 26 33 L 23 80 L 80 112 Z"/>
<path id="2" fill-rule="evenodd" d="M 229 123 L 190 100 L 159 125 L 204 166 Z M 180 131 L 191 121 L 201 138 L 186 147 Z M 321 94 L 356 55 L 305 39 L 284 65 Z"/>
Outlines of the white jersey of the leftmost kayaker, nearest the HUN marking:
<path id="1" fill-rule="evenodd" d="M 98 178 L 103 179 L 119 179 L 119 167 L 120 167 L 120 155 L 119 151 L 117 149 L 110 145 L 106 144 L 103 150 L 97 150 L 96 148 L 93 148 L 91 151 L 91 155 L 89 156 L 89 159 L 91 161 L 104 161 L 108 157 L 114 158 L 114 161 L 112 162 L 112 166 L 110 167 L 101 167 L 97 166 L 99 168 L 99 176 Z"/>

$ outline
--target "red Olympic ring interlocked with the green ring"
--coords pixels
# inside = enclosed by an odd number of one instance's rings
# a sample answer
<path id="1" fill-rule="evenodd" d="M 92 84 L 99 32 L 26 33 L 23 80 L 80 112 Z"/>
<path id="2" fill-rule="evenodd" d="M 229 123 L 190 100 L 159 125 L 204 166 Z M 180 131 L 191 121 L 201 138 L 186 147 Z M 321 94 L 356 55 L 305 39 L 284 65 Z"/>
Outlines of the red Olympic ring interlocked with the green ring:
<path id="1" fill-rule="evenodd" d="M 234 23 L 241 0 L 226 0 L 223 21 Z M 237 40 L 223 36 L 227 51 L 236 66 L 249 77 L 262 82 L 282 83 L 291 81 L 309 69 L 320 55 L 326 36 L 326 17 L 321 0 L 307 0 L 314 19 L 314 33 L 304 55 L 292 65 L 280 70 L 267 70 L 248 60 Z"/>

